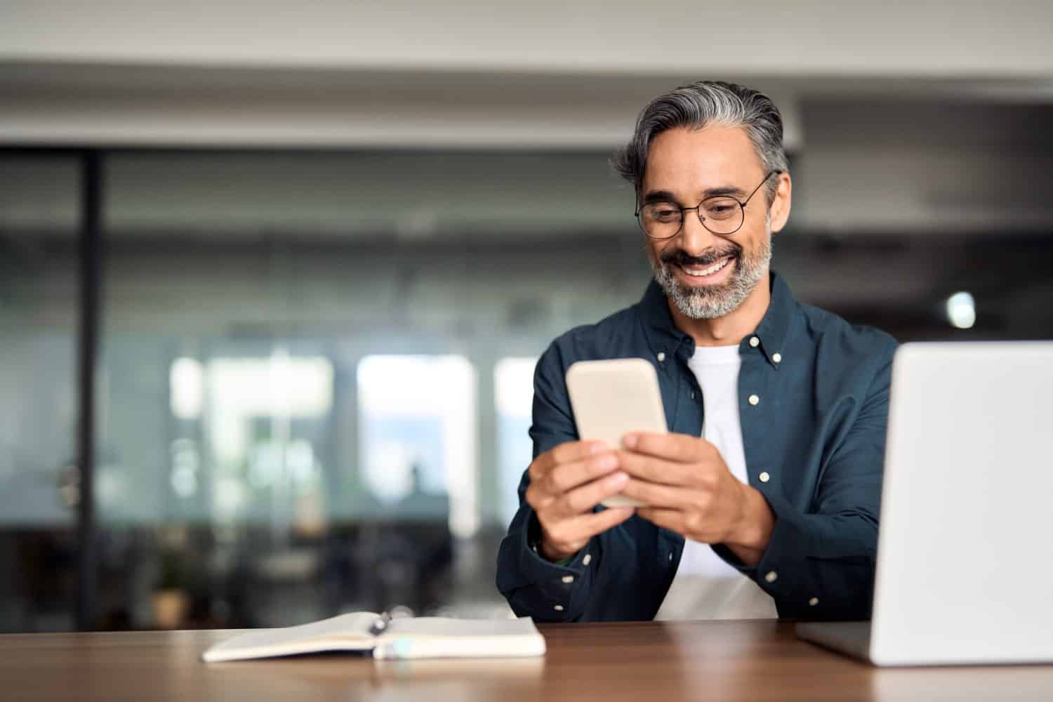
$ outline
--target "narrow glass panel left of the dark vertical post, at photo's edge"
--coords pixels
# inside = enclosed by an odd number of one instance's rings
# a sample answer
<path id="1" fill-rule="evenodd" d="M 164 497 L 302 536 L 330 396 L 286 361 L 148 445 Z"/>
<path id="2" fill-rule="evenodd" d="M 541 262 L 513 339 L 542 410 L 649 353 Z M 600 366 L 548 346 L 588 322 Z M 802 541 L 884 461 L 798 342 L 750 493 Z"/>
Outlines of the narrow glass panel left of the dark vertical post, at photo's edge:
<path id="1" fill-rule="evenodd" d="M 79 192 L 74 155 L 0 152 L 0 631 L 75 622 Z"/>

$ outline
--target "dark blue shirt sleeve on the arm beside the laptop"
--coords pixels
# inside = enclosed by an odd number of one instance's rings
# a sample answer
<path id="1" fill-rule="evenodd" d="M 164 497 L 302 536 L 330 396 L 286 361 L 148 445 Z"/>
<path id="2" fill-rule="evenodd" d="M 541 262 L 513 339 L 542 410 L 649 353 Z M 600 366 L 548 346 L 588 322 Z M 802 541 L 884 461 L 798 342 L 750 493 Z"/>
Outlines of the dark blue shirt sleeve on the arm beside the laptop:
<path id="1" fill-rule="evenodd" d="M 744 566 L 727 546 L 714 546 L 774 598 L 780 617 L 870 618 L 894 350 L 892 343 L 827 462 L 810 514 L 777 490 L 762 490 L 775 527 L 760 562 Z"/>

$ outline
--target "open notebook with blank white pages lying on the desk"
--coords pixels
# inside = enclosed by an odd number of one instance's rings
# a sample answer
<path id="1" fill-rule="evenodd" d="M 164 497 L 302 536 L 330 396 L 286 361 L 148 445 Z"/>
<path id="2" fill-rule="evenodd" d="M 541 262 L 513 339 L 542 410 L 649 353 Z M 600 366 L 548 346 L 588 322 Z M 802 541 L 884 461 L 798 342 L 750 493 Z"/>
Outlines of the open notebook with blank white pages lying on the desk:
<path id="1" fill-rule="evenodd" d="M 255 629 L 221 641 L 201 655 L 214 663 L 323 650 L 372 650 L 374 658 L 494 658 L 543 656 L 544 637 L 519 619 L 393 619 L 370 633 L 378 615 L 356 611 L 311 624 Z"/>

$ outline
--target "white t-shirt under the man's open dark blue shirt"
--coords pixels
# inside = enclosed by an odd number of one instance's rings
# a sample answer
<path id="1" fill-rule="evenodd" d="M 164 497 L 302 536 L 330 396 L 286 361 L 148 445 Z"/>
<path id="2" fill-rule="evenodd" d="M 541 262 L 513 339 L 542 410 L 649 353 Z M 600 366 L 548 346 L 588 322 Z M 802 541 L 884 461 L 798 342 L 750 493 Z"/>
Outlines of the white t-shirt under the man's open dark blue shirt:
<path id="1" fill-rule="evenodd" d="M 742 427 L 738 418 L 738 346 L 696 346 L 688 367 L 702 388 L 706 420 L 702 438 L 720 452 L 741 482 L 748 482 Z M 656 620 L 768 619 L 777 617 L 775 601 L 757 583 L 728 565 L 709 544 L 688 539 L 676 577 Z"/>

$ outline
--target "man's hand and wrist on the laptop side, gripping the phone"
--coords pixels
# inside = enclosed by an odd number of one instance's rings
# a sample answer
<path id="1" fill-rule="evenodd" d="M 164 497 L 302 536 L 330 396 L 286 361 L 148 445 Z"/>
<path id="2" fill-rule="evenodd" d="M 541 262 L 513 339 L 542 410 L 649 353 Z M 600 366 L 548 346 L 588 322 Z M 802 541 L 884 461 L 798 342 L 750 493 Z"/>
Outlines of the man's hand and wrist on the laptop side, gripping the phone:
<path id="1" fill-rule="evenodd" d="M 630 434 L 622 443 L 618 468 L 630 480 L 621 494 L 647 505 L 637 515 L 684 538 L 724 544 L 747 565 L 760 561 L 775 517 L 716 446 L 686 434 Z"/>

